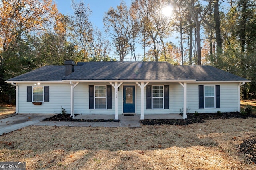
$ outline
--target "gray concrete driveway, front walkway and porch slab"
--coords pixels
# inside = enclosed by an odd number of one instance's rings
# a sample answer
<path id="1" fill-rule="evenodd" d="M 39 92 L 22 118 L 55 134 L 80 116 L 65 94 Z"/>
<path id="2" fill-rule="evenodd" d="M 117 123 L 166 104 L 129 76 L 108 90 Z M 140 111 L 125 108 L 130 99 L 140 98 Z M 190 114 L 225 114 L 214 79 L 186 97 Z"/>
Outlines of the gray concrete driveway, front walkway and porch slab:
<path id="1" fill-rule="evenodd" d="M 141 127 L 140 115 L 118 115 L 119 120 L 111 122 L 68 122 L 68 121 L 41 121 L 53 115 L 17 114 L 0 120 L 0 135 L 21 129 L 26 126 L 70 126 L 70 127 Z M 179 114 L 144 115 L 145 119 L 182 119 Z M 114 115 L 77 115 L 75 119 L 114 119 Z"/>

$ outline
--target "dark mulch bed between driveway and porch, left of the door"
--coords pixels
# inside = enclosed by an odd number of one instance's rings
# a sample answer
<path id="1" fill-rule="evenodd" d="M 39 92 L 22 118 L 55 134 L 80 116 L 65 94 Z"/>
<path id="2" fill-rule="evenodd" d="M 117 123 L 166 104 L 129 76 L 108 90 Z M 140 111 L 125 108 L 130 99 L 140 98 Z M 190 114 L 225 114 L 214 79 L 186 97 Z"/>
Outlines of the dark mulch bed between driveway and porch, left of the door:
<path id="1" fill-rule="evenodd" d="M 58 114 L 58 115 L 54 115 L 50 118 L 43 119 L 42 121 L 80 121 L 80 122 L 111 122 L 111 121 L 115 121 L 115 122 L 118 122 L 120 120 L 114 120 L 114 119 L 109 119 L 109 120 L 104 120 L 104 119 L 94 119 L 94 120 L 73 119 L 73 118 L 70 117 L 70 114 L 66 114 L 66 115 Z"/>

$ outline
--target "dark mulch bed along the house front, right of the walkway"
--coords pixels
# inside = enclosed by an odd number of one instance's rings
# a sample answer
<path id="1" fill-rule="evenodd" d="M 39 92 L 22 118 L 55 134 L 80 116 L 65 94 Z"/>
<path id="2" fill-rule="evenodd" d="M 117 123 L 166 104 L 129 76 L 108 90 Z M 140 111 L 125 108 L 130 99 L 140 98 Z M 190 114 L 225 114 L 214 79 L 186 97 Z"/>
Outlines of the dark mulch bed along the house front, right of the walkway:
<path id="1" fill-rule="evenodd" d="M 231 119 L 231 118 L 242 118 L 246 119 L 248 117 L 256 118 L 256 115 L 242 115 L 239 112 L 229 112 L 229 113 L 190 113 L 187 115 L 187 119 L 146 119 L 140 120 L 143 125 L 189 125 L 194 123 L 204 123 L 205 120 L 211 119 Z"/>

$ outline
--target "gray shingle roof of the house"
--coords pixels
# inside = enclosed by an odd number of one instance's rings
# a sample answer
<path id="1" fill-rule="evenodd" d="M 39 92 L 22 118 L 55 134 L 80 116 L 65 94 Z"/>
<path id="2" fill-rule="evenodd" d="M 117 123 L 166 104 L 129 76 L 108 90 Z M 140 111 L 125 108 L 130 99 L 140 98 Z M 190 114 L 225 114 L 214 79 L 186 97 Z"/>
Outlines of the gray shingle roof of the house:
<path id="1" fill-rule="evenodd" d="M 65 76 L 65 66 L 44 66 L 8 81 L 194 80 L 247 81 L 212 66 L 173 66 L 167 62 L 86 62 Z"/>

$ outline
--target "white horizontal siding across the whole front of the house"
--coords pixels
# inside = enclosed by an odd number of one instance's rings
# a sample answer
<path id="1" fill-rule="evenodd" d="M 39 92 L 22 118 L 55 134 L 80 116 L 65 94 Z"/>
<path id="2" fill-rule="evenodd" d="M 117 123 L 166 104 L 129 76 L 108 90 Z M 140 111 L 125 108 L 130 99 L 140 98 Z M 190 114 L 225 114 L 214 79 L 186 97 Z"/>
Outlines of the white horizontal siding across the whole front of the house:
<path id="1" fill-rule="evenodd" d="M 216 85 L 203 83 L 187 84 L 187 108 L 190 113 L 215 113 L 217 111 L 238 111 L 238 83 L 217 83 L 220 85 L 220 108 L 199 109 L 198 85 Z M 112 87 L 112 109 L 89 109 L 89 85 L 110 85 L 110 83 L 79 83 L 74 88 L 74 113 L 75 114 L 115 114 L 115 90 Z M 136 83 L 123 83 L 118 91 L 118 114 L 123 113 L 123 86 L 134 85 L 136 95 L 136 114 L 141 113 L 141 88 Z M 144 114 L 181 113 L 184 103 L 184 88 L 179 83 L 149 83 L 148 85 L 169 85 L 169 109 L 146 109 L 146 87 L 144 88 Z M 42 105 L 33 105 L 26 102 L 27 86 L 33 83 L 20 83 L 18 94 L 19 113 L 61 113 L 61 107 L 70 113 L 70 84 L 69 83 L 42 83 L 40 86 L 49 86 L 49 102 Z"/>

